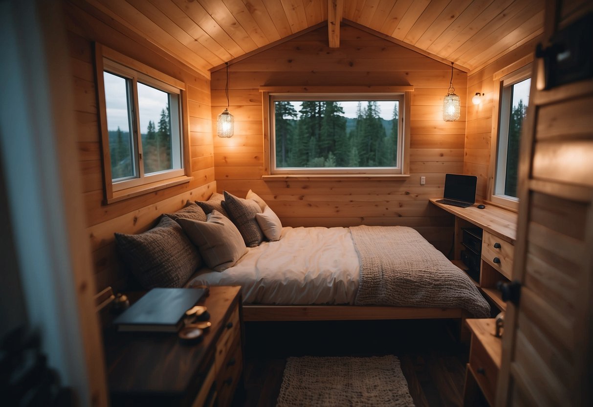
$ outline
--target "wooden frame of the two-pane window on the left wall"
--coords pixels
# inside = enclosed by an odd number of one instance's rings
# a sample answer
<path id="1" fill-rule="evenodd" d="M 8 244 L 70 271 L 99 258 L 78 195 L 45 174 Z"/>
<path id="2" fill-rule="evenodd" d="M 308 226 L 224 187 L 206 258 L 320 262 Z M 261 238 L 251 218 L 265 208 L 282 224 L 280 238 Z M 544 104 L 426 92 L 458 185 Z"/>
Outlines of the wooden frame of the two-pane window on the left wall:
<path id="1" fill-rule="evenodd" d="M 133 165 L 135 166 L 136 176 L 119 180 L 111 179 L 109 129 L 107 128 L 107 108 L 103 80 L 104 71 L 130 81 L 126 82 L 126 86 L 129 88 L 128 104 L 129 109 L 131 109 L 130 114 L 132 115 L 129 121 L 133 142 Z M 104 199 L 106 203 L 122 201 L 133 196 L 139 196 L 144 193 L 189 182 L 192 178 L 190 177 L 189 117 L 187 115 L 186 84 L 99 43 L 95 43 L 95 78 L 97 82 L 103 156 Z M 140 117 L 138 114 L 138 82 L 168 94 L 171 111 L 170 116 L 171 118 L 178 117 L 178 121 L 171 120 L 171 137 L 177 136 L 174 132 L 177 132 L 179 136 L 178 148 L 176 146 L 177 143 L 173 143 L 171 154 L 174 154 L 178 159 L 177 162 L 180 163 L 180 168 L 171 168 L 171 170 L 145 174 L 144 165 L 140 165 L 143 160 L 143 151 Z M 177 97 L 173 98 L 171 97 L 172 95 L 176 95 Z"/>

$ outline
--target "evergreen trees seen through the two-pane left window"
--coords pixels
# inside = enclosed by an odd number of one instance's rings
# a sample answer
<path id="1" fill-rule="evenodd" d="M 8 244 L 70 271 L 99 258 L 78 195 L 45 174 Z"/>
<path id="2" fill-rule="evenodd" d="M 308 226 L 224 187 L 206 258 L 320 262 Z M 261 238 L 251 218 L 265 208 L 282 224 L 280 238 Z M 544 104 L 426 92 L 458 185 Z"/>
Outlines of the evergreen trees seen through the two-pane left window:
<path id="1" fill-rule="evenodd" d="M 116 131 L 109 131 L 109 150 L 111 155 L 111 179 L 135 176 L 133 167 L 132 139 L 129 132 L 122 131 L 119 126 Z M 173 168 L 171 158 L 171 122 L 169 109 L 161 110 L 158 128 L 155 123 L 148 122 L 146 133 L 142 133 L 142 154 L 144 173 Z"/>

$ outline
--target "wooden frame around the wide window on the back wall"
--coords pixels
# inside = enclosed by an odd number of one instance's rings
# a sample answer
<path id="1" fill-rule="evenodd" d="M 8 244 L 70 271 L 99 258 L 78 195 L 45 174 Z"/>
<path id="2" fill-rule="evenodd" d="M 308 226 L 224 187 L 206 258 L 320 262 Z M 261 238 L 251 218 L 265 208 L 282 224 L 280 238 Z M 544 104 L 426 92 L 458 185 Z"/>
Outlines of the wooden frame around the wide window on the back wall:
<path id="1" fill-rule="evenodd" d="M 409 177 L 409 112 L 412 86 L 385 87 L 260 87 L 263 105 L 264 150 L 266 171 L 263 179 L 307 177 Z M 398 166 L 397 167 L 334 167 L 334 168 L 276 168 L 275 166 L 275 112 L 274 101 L 399 101 L 398 117 Z"/>

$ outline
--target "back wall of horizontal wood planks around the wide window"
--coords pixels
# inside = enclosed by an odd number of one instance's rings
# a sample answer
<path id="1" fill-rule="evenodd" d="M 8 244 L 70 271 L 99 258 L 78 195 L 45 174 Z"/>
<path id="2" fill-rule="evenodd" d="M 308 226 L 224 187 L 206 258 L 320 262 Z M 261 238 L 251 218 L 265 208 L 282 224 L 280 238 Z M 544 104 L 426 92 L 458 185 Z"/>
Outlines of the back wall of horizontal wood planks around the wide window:
<path id="1" fill-rule="evenodd" d="M 262 196 L 289 226 L 407 225 L 438 249 L 451 246 L 452 217 L 430 205 L 445 173 L 461 173 L 467 74 L 455 70 L 461 119 L 442 120 L 451 67 L 358 28 L 343 25 L 340 47 L 319 28 L 229 65 L 229 111 L 235 135 L 214 136 L 219 192 Z M 212 73 L 212 119 L 227 106 L 225 70 Z M 264 182 L 261 85 L 413 85 L 408 179 Z M 426 185 L 420 186 L 420 176 Z"/>

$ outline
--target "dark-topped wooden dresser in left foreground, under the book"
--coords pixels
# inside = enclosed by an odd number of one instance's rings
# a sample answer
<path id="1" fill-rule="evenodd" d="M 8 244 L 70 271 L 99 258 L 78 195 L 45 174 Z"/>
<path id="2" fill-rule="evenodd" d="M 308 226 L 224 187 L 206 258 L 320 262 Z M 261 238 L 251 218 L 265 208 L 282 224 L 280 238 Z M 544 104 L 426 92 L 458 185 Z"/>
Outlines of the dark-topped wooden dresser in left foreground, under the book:
<path id="1" fill-rule="evenodd" d="M 243 370 L 240 287 L 211 287 L 203 340 L 183 344 L 175 333 L 104 335 L 112 405 L 228 406 Z"/>

